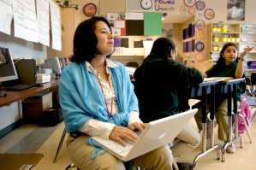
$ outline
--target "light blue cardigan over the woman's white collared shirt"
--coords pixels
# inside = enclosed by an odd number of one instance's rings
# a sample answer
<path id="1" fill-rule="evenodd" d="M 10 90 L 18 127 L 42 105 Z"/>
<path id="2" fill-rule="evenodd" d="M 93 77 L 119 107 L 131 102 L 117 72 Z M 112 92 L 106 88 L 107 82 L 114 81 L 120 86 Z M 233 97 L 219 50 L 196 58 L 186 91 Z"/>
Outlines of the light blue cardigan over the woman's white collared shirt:
<path id="1" fill-rule="evenodd" d="M 114 114 L 110 119 L 98 80 L 86 69 L 85 62 L 73 62 L 63 69 L 59 93 L 67 132 L 79 130 L 90 119 L 110 122 L 117 126 L 128 126 L 130 111 L 139 112 L 134 85 L 130 81 L 128 72 L 122 63 L 115 63 L 117 67 L 110 67 L 110 73 L 120 113 Z"/>

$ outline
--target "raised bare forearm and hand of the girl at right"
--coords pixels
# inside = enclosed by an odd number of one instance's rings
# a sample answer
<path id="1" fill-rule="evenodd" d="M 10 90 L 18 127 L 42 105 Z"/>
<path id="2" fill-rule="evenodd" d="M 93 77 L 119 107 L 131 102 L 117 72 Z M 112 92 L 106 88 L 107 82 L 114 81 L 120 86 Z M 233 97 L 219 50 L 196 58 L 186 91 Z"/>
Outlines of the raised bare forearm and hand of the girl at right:
<path id="1" fill-rule="evenodd" d="M 247 46 L 240 54 L 239 56 L 239 60 L 238 60 L 238 64 L 235 70 L 235 78 L 239 79 L 242 77 L 243 73 L 244 73 L 244 69 L 243 69 L 243 62 L 245 61 L 245 56 L 247 55 L 248 52 L 250 52 L 251 50 L 253 50 L 253 47 L 249 47 Z"/>

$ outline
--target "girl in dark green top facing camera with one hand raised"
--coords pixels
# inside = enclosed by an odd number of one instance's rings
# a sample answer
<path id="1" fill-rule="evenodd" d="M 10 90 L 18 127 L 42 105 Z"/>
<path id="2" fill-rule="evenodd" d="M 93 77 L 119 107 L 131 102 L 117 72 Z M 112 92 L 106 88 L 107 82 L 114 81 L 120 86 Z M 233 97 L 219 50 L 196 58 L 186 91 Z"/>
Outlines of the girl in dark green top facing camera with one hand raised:
<path id="1" fill-rule="evenodd" d="M 249 51 L 253 50 L 251 47 L 246 47 L 238 57 L 238 50 L 235 44 L 227 43 L 223 45 L 223 49 L 220 51 L 219 58 L 217 60 L 217 64 L 211 67 L 204 73 L 206 78 L 208 77 L 233 77 L 233 78 L 245 78 L 245 73 L 243 69 L 243 63 L 245 61 L 245 56 Z M 242 86 L 238 85 L 237 91 L 237 107 L 240 107 L 241 103 L 241 93 Z M 221 141 L 227 142 L 229 138 L 229 123 L 228 123 L 228 100 L 225 95 L 221 95 L 220 92 L 216 91 L 216 120 L 218 124 L 218 138 Z M 233 106 L 232 106 L 233 107 Z M 233 108 L 232 108 L 233 109 Z M 201 118 L 202 112 L 199 109 L 199 112 L 195 114 L 195 120 L 199 127 L 199 130 L 202 130 Z M 207 131 L 210 132 L 210 131 Z M 229 145 L 227 149 L 228 153 L 235 152 L 234 144 Z"/>

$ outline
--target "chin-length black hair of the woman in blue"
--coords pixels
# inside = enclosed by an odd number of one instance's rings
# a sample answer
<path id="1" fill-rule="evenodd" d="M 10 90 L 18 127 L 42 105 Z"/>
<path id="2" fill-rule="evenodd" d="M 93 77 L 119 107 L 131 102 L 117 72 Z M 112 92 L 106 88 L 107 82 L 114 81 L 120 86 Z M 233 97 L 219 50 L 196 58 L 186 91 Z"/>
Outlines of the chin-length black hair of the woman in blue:
<path id="1" fill-rule="evenodd" d="M 70 57 L 71 62 L 90 62 L 97 54 L 101 54 L 96 48 L 98 39 L 94 32 L 96 29 L 95 25 L 98 21 L 103 21 L 110 28 L 109 21 L 101 16 L 93 16 L 86 21 L 82 21 L 77 26 L 74 32 L 73 56 Z"/>

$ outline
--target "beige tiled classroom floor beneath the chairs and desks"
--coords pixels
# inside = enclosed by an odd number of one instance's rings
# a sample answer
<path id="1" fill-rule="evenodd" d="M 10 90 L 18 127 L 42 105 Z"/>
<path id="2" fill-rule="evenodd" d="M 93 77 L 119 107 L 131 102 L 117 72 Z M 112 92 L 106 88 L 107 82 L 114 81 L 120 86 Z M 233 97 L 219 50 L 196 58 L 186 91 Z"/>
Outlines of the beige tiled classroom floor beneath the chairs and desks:
<path id="1" fill-rule="evenodd" d="M 191 122 L 194 125 L 194 120 Z M 57 158 L 57 163 L 53 163 L 56 154 L 57 145 L 63 134 L 63 122 L 54 127 L 42 127 L 35 125 L 23 125 L 9 132 L 8 135 L 0 139 L 0 153 L 42 153 L 44 157 L 39 161 L 35 170 L 64 170 L 71 161 L 68 158 L 68 151 L 65 147 L 61 149 Z M 252 121 L 250 131 L 252 133 L 253 144 L 249 144 L 247 133 L 245 132 L 242 137 L 244 140 L 244 148 L 240 148 L 239 142 L 235 143 L 235 154 L 226 154 L 226 161 L 222 162 L 217 160 L 217 151 L 212 151 L 210 154 L 199 159 L 195 170 L 255 170 L 256 169 L 256 118 Z M 215 131 L 217 128 L 215 128 Z M 67 137 L 68 135 L 66 135 Z M 217 134 L 215 132 L 215 137 Z M 220 141 L 215 139 L 216 144 L 221 144 Z M 189 162 L 193 161 L 193 157 L 198 155 L 201 151 L 201 146 L 195 149 L 193 153 L 187 156 Z"/>

